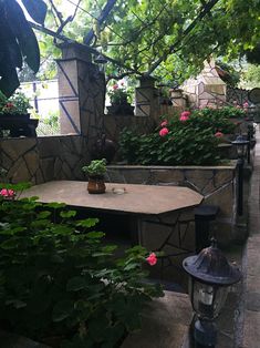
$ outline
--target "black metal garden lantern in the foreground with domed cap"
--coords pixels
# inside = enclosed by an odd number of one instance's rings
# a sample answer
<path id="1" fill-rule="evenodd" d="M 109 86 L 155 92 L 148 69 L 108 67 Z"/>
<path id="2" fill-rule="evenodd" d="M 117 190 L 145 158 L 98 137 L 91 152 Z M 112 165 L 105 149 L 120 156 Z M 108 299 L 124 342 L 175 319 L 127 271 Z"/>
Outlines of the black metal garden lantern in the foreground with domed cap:
<path id="1" fill-rule="evenodd" d="M 214 348 L 217 344 L 215 319 L 226 301 L 229 286 L 240 280 L 241 273 L 228 263 L 215 238 L 210 247 L 185 258 L 183 266 L 190 276 L 189 296 L 196 314 L 195 342 L 197 347 Z"/>

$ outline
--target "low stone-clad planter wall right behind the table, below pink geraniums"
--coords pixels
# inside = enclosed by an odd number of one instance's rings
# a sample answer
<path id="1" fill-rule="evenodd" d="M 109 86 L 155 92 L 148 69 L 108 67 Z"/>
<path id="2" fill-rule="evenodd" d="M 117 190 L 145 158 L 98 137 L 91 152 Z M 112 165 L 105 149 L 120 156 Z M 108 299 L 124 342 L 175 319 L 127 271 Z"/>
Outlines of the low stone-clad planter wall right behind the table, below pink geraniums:
<path id="1" fill-rule="evenodd" d="M 108 166 L 107 180 L 117 183 L 187 186 L 202 194 L 204 204 L 219 206 L 212 232 L 222 244 L 237 239 L 236 162 L 229 166 Z M 153 197 L 156 204 L 156 197 Z M 173 197 L 174 199 L 174 197 Z"/>

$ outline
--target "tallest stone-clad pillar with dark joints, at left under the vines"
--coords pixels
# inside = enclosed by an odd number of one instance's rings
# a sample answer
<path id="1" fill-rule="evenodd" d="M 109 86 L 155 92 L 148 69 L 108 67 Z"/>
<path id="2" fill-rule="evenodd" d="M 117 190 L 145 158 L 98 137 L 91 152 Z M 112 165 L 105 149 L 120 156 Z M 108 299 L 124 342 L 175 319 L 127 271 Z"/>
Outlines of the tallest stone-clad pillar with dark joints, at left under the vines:
<path id="1" fill-rule="evenodd" d="M 84 135 L 91 146 L 104 130 L 105 76 L 85 47 L 64 43 L 60 48 L 61 133 Z"/>

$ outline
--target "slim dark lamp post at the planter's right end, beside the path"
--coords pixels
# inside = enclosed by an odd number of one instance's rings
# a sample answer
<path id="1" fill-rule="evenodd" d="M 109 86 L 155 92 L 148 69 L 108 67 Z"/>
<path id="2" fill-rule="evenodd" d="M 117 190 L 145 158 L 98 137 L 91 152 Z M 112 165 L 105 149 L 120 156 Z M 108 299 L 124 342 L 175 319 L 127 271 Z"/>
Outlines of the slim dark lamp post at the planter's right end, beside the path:
<path id="1" fill-rule="evenodd" d="M 238 201 L 237 213 L 239 216 L 243 213 L 243 158 L 249 141 L 245 140 L 242 135 L 238 135 L 232 145 L 237 147 L 238 154 Z"/>

